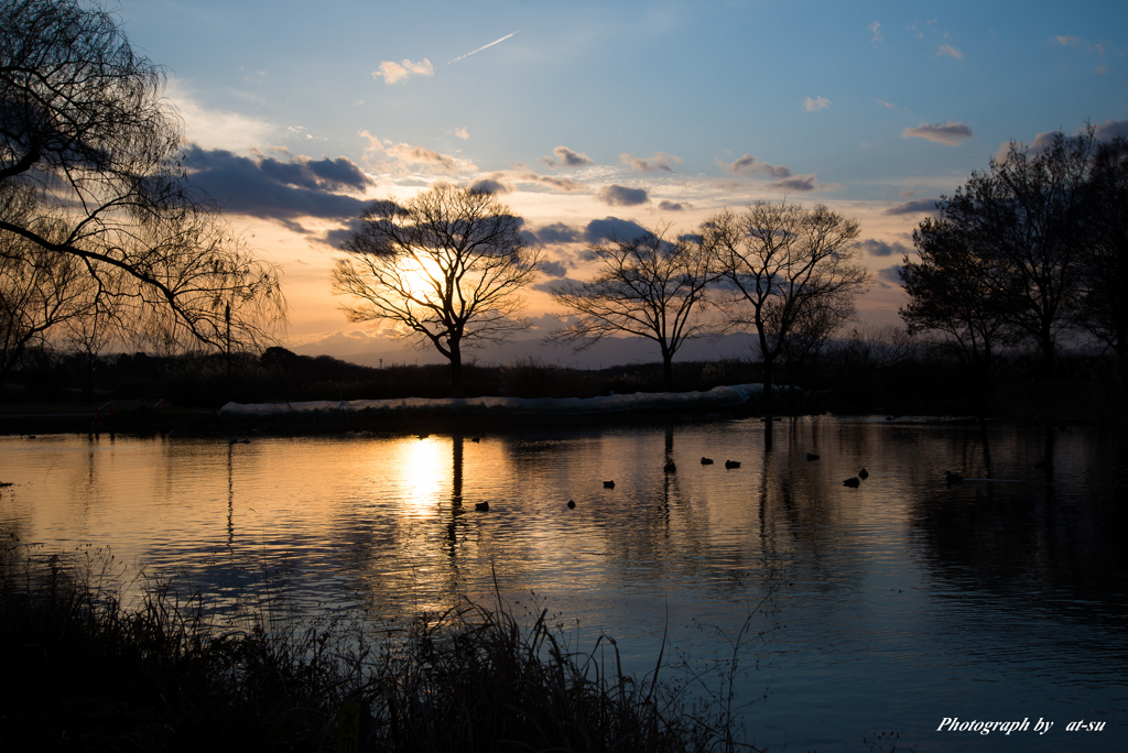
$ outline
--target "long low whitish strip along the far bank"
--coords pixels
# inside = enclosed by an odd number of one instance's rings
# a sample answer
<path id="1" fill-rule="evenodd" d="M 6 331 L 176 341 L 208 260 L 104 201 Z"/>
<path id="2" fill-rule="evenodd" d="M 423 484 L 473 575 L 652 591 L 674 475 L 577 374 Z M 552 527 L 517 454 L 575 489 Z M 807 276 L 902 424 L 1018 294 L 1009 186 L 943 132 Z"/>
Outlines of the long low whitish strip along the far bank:
<path id="1" fill-rule="evenodd" d="M 778 389 L 778 388 L 777 388 Z M 786 389 L 786 388 L 783 388 Z M 306 402 L 228 402 L 220 413 L 262 416 L 315 410 L 449 411 L 491 410 L 526 414 L 594 414 L 649 408 L 735 406 L 764 392 L 763 384 L 714 387 L 708 392 L 635 392 L 598 398 L 398 398 L 393 400 L 309 400 Z"/>

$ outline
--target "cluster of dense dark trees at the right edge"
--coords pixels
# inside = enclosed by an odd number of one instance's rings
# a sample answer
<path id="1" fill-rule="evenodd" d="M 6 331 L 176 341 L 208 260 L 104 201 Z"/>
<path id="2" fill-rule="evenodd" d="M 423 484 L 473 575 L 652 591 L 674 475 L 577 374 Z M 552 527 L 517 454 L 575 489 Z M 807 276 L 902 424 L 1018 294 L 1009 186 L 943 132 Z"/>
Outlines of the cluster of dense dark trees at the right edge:
<path id="1" fill-rule="evenodd" d="M 1128 376 L 1128 142 L 1094 134 L 1011 143 L 914 232 L 901 318 L 959 360 L 980 400 L 1023 348 L 1052 378 L 1064 345 L 1087 342 Z"/>

